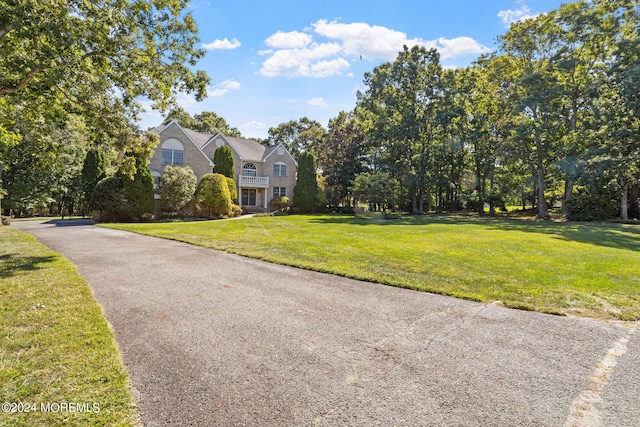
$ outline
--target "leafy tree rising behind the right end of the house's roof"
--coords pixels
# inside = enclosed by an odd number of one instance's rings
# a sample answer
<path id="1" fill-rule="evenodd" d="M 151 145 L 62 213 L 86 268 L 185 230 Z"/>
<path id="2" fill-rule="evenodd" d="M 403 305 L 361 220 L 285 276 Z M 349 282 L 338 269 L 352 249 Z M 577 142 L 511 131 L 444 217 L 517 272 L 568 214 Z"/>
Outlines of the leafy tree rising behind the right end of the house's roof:
<path id="1" fill-rule="evenodd" d="M 284 145 L 296 160 L 299 160 L 300 154 L 305 151 L 317 156 L 322 151 L 325 138 L 326 130 L 322 125 L 307 117 L 269 129 L 269 145 Z"/>

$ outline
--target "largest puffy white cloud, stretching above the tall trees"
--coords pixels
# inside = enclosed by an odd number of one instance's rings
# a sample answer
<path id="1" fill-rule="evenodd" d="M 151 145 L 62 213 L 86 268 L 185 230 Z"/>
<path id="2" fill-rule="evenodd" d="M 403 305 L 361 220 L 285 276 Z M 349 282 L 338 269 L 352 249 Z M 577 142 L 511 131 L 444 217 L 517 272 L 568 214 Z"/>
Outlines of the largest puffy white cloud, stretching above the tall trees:
<path id="1" fill-rule="evenodd" d="M 345 24 L 320 19 L 305 31 L 314 31 L 330 42 L 318 43 L 311 35 L 298 31 L 278 31 L 265 40 L 273 49 L 258 52 L 268 55 L 260 73 L 268 77 L 336 76 L 349 70 L 347 58 L 392 61 L 403 46 L 437 48 L 443 59 L 490 52 L 470 37 L 410 39 L 406 33 L 363 22 Z"/>

